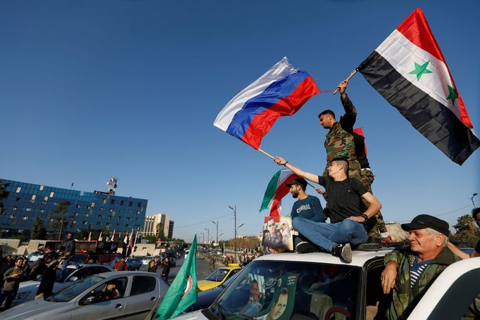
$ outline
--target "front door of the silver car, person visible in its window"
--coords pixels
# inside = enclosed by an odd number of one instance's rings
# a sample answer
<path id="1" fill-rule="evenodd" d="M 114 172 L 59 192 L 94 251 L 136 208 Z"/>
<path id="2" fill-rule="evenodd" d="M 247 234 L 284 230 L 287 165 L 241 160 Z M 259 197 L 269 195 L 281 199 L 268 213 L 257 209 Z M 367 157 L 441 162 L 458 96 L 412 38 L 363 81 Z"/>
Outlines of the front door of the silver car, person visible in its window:
<path id="1" fill-rule="evenodd" d="M 115 283 L 115 293 L 107 295 L 108 286 Z M 125 309 L 125 292 L 128 278 L 126 276 L 110 278 L 82 295 L 72 309 L 72 320 L 85 319 L 121 319 Z M 93 298 L 90 302 L 89 298 Z"/>

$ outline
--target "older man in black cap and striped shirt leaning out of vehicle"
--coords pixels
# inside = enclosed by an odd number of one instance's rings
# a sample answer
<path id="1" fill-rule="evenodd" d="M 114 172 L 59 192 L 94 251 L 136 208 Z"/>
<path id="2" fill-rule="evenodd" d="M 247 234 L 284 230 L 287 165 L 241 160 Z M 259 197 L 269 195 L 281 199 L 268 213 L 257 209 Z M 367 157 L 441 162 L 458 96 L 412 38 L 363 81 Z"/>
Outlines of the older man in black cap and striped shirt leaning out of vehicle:
<path id="1" fill-rule="evenodd" d="M 436 277 L 460 260 L 447 247 L 447 222 L 419 215 L 410 224 L 402 224 L 402 229 L 409 233 L 410 248 L 399 248 L 386 255 L 381 274 L 384 293 L 393 289 L 386 319 L 407 319 Z"/>

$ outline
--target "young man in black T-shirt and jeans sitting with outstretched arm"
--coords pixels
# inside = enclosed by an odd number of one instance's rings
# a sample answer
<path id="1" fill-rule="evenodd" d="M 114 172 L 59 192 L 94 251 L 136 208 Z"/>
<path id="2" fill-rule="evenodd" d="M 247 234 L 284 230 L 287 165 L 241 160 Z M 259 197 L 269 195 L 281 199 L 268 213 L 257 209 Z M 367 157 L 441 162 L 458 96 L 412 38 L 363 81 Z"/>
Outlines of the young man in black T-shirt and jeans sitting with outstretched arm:
<path id="1" fill-rule="evenodd" d="M 274 158 L 274 162 L 286 166 L 302 178 L 324 186 L 329 195 L 331 223 L 313 222 L 302 217 L 292 219 L 293 228 L 310 241 L 298 243 L 296 251 L 315 252 L 320 248 L 345 262 L 352 262 L 350 244 L 359 245 L 367 241 L 364 224 L 380 210 L 379 200 L 367 191 L 362 181 L 348 178 L 348 161 L 345 158 L 334 158 L 331 161 L 328 178 L 304 172 L 280 157 Z M 362 212 L 362 198 L 370 202 L 370 207 L 365 212 Z"/>

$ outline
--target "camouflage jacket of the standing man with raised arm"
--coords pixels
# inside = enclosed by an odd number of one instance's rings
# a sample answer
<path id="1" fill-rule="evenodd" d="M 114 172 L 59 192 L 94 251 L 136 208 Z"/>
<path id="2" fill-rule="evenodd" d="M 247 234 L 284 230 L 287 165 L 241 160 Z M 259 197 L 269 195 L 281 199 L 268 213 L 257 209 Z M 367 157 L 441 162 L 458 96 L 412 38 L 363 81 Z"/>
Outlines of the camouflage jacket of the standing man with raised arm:
<path id="1" fill-rule="evenodd" d="M 339 122 L 335 122 L 330 128 L 329 133 L 325 136 L 325 151 L 327 151 L 327 166 L 325 167 L 323 176 L 328 177 L 328 167 L 331 160 L 337 157 L 348 159 L 349 178 L 360 179 L 360 163 L 355 153 L 355 143 L 353 141 L 353 124 L 357 119 L 357 110 L 350 98 L 341 98 L 341 104 L 345 110 L 345 114 L 340 117 Z"/>

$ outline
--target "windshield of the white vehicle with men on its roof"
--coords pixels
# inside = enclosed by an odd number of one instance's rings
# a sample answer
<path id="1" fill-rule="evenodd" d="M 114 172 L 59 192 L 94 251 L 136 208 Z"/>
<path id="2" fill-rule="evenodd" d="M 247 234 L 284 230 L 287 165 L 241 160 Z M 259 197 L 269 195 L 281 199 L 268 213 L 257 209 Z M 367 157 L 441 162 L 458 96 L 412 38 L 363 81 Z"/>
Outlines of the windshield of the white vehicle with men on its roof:
<path id="1" fill-rule="evenodd" d="M 343 264 L 254 261 L 203 314 L 214 320 L 326 319 L 336 310 L 356 319 L 360 272 Z"/>

